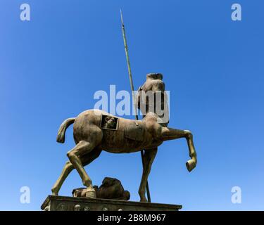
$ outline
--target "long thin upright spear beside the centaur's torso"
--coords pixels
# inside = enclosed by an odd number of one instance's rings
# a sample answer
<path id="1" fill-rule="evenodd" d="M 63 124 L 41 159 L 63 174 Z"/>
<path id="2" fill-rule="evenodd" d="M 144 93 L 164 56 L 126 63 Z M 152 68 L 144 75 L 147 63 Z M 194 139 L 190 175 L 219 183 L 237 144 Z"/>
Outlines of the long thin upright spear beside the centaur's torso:
<path id="1" fill-rule="evenodd" d="M 125 25 L 122 20 L 122 10 L 120 10 L 120 15 L 121 15 L 121 23 L 122 23 L 122 37 L 124 39 L 124 46 L 125 46 L 125 56 L 127 58 L 127 69 L 128 69 L 128 75 L 130 77 L 130 87 L 132 91 L 132 99 L 133 99 L 133 105 L 134 105 L 134 115 L 136 120 L 139 120 L 139 117 L 137 115 L 137 105 L 135 104 L 135 96 L 134 96 L 134 84 L 133 84 L 133 79 L 132 79 L 132 72 L 131 72 L 131 67 L 130 67 L 130 57 L 128 56 L 128 49 L 127 49 L 127 38 L 125 36 Z M 144 165 L 144 151 L 140 151 L 142 155 L 142 165 Z M 149 193 L 149 182 L 146 181 L 146 195 L 148 196 L 148 201 L 151 203 L 151 194 Z"/>

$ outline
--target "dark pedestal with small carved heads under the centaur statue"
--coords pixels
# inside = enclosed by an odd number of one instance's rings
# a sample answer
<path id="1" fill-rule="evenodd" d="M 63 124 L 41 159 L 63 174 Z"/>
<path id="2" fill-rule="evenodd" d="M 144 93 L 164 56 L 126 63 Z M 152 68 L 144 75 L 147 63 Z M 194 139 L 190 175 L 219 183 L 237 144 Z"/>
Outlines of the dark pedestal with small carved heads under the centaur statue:
<path id="1" fill-rule="evenodd" d="M 178 211 L 182 205 L 49 195 L 41 208 L 49 211 Z"/>

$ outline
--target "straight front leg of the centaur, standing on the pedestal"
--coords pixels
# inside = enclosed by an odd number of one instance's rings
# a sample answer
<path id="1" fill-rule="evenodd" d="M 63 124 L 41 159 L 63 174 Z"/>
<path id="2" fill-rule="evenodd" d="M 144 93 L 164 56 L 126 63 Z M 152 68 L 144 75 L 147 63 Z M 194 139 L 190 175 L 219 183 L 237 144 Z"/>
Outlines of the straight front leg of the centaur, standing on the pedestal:
<path id="1" fill-rule="evenodd" d="M 144 158 L 143 158 L 143 173 L 142 173 L 142 181 L 139 186 L 139 196 L 141 202 L 147 202 L 146 200 L 146 181 L 148 180 L 149 173 L 151 172 L 151 165 L 153 160 L 155 159 L 158 148 L 145 150 Z"/>

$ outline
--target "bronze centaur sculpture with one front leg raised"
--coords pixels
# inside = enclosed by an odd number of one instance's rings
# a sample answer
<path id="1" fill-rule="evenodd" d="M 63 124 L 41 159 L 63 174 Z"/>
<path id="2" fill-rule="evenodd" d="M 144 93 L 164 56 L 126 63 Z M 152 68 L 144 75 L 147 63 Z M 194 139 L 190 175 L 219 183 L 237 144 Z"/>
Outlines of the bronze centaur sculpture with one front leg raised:
<path id="1" fill-rule="evenodd" d="M 142 91 L 164 91 L 165 84 L 161 74 L 149 74 L 146 82 L 141 86 Z M 140 99 L 140 96 L 139 98 Z M 173 139 L 187 139 L 189 156 L 187 169 L 191 172 L 196 167 L 196 151 L 191 131 L 168 128 L 166 123 L 161 122 L 161 116 L 155 110 L 149 110 L 149 101 L 145 101 L 146 115 L 143 120 L 127 120 L 122 117 L 115 117 L 102 110 L 86 110 L 75 118 L 65 120 L 58 130 L 57 141 L 64 143 L 65 131 L 73 124 L 73 136 L 76 146 L 68 151 L 69 161 L 66 162 L 61 176 L 52 188 L 52 194 L 58 195 L 63 181 L 73 169 L 82 178 L 87 190 L 92 190 L 92 180 L 89 178 L 84 166 L 99 157 L 102 150 L 109 153 L 134 153 L 144 149 L 143 174 L 139 186 L 140 201 L 146 202 L 145 190 L 146 181 L 151 171 L 152 162 L 156 156 L 158 146 L 163 141 Z M 166 104 L 162 101 L 163 108 Z M 165 105 L 166 107 L 166 105 Z"/>

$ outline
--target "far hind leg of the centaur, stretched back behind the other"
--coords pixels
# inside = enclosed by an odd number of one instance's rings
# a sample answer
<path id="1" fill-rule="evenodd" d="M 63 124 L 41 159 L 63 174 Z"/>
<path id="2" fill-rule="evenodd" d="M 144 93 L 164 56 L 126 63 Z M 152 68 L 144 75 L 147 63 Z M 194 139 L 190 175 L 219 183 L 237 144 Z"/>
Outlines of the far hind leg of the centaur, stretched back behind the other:
<path id="1" fill-rule="evenodd" d="M 101 154 L 101 150 L 99 149 L 94 149 L 92 152 L 83 155 L 80 160 L 82 161 L 82 165 L 85 167 L 88 165 L 90 162 L 94 161 L 96 158 L 99 157 Z M 70 161 L 67 161 L 65 166 L 63 167 L 63 171 L 61 172 L 61 176 L 58 178 L 56 183 L 54 184 L 53 188 L 51 189 L 52 195 L 58 195 L 58 191 L 60 191 L 61 186 L 63 185 L 63 182 L 67 178 L 67 176 L 72 172 L 74 169 L 72 163 Z"/>

